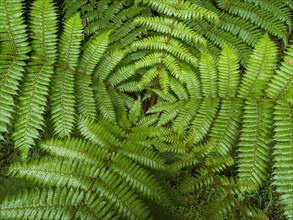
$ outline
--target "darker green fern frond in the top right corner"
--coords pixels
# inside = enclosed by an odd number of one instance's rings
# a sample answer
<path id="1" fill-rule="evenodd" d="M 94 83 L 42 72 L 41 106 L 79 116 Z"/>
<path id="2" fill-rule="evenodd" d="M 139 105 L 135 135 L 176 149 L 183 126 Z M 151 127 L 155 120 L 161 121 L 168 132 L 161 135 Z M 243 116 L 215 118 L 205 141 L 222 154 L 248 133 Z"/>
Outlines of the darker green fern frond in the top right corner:
<path id="1" fill-rule="evenodd" d="M 212 54 L 219 54 L 226 43 L 246 65 L 251 46 L 255 46 L 263 35 L 263 30 L 279 36 L 285 44 L 292 27 L 292 8 L 280 1 L 202 1 L 200 5 L 220 15 L 219 25 L 211 26 L 190 21 L 190 26 L 208 39 L 208 48 Z M 222 13 L 224 11 L 224 13 Z M 273 18 L 272 18 L 273 15 Z"/>

